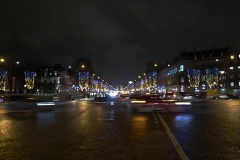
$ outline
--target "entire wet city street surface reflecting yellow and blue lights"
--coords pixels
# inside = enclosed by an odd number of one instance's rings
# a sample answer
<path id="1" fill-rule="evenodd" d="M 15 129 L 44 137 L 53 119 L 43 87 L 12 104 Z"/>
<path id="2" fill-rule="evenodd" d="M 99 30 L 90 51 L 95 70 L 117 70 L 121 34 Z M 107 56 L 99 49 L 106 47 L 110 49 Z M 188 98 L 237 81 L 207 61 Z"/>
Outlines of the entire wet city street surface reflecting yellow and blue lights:
<path id="1" fill-rule="evenodd" d="M 0 159 L 240 159 L 239 100 L 193 102 L 188 112 L 136 112 L 119 102 L 50 107 L 0 105 Z"/>

